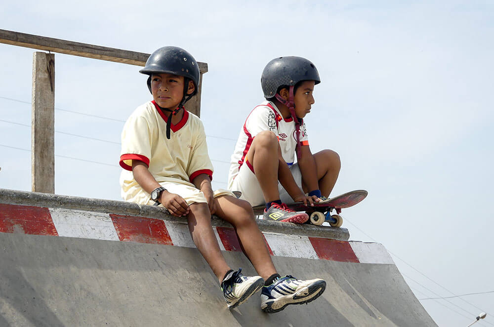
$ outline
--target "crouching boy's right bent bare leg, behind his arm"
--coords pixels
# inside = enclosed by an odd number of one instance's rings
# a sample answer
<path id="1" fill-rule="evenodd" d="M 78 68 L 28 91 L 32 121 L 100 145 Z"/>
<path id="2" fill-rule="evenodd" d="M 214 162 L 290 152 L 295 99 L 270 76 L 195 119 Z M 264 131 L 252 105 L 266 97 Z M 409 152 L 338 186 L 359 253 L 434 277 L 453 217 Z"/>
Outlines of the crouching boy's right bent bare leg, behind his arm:
<path id="1" fill-rule="evenodd" d="M 329 194 L 333 190 L 336 179 L 338 179 L 341 162 L 338 154 L 332 150 L 323 150 L 314 154 L 317 168 L 317 179 L 319 181 L 319 189 L 321 194 L 329 198 Z M 303 190 L 307 193 L 307 187 L 303 186 Z"/>

